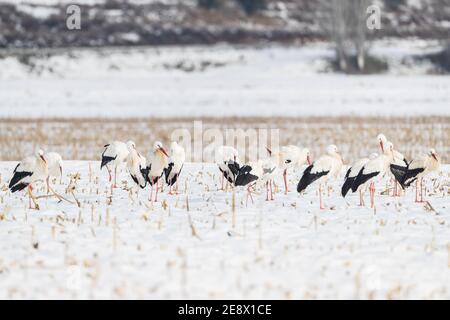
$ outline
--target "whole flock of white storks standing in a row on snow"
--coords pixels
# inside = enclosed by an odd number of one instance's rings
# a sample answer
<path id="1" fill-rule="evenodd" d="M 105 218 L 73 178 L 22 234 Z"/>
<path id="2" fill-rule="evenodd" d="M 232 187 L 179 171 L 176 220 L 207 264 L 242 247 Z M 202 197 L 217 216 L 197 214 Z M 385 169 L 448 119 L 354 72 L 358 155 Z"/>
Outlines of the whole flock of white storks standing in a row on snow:
<path id="1" fill-rule="evenodd" d="M 350 191 L 358 192 L 359 205 L 364 206 L 364 193 L 369 190 L 370 206 L 373 208 L 375 206 L 375 187 L 377 183 L 387 178 L 392 182 L 393 196 L 399 196 L 402 190 L 415 182 L 415 200 L 423 202 L 423 178 L 440 167 L 440 157 L 436 151 L 430 149 L 427 154 L 407 161 L 385 135 L 378 135 L 377 144 L 380 154 L 372 153 L 348 168 L 341 190 L 342 196 L 345 197 Z M 182 171 L 186 154 L 183 147 L 177 142 L 171 143 L 170 154 L 161 142 L 155 142 L 148 159 L 137 151 L 133 141 L 127 143 L 114 141 L 105 145 L 104 148 L 100 168 L 107 169 L 113 188 L 117 188 L 119 167 L 126 163 L 127 171 L 138 189 L 150 186 L 150 201 L 158 201 L 158 191 L 164 184 L 169 186 L 169 194 L 178 193 L 178 177 Z M 258 187 L 265 186 L 266 200 L 270 201 L 274 199 L 274 178 L 277 174 L 282 173 L 285 193 L 288 193 L 288 170 L 306 165 L 298 182 L 297 191 L 302 193 L 315 183 L 318 186 L 320 208 L 325 209 L 322 197 L 323 189 L 329 180 L 339 178 L 344 168 L 344 161 L 338 148 L 335 145 L 328 146 L 326 154 L 314 162 L 311 162 L 310 152 L 307 148 L 289 145 L 281 147 L 277 151 L 267 148 L 267 151 L 267 158 L 242 164 L 235 148 L 230 146 L 217 148 L 215 158 L 221 172 L 221 189 L 245 187 L 247 203 L 249 198 L 253 202 L 252 194 Z M 27 188 L 30 208 L 32 208 L 31 201 L 35 204 L 34 208 L 38 208 L 33 195 L 33 184 L 37 181 L 46 181 L 47 190 L 52 190 L 50 177 L 61 179 L 62 174 L 61 156 L 55 152 L 44 153 L 42 150 L 38 150 L 35 155 L 23 159 L 16 166 L 9 189 L 11 192 L 16 192 Z"/>

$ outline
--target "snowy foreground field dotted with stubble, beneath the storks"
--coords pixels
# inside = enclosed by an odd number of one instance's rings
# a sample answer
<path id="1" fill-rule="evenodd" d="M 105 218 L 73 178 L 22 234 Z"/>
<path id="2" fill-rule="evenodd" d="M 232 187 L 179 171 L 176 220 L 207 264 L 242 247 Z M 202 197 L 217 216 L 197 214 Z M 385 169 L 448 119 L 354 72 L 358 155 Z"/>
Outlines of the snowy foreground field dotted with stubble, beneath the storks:
<path id="1" fill-rule="evenodd" d="M 0 163 L 0 298 L 450 298 L 449 166 L 427 182 L 432 208 L 413 189 L 360 208 L 338 181 L 330 210 L 314 188 L 248 207 L 238 190 L 233 214 L 211 164 L 187 164 L 180 194 L 152 206 L 125 172 L 111 196 L 98 162 L 68 161 L 55 186 L 73 199 L 67 175 L 79 173 L 81 207 L 42 198 L 40 211 L 7 191 L 14 165 Z"/>

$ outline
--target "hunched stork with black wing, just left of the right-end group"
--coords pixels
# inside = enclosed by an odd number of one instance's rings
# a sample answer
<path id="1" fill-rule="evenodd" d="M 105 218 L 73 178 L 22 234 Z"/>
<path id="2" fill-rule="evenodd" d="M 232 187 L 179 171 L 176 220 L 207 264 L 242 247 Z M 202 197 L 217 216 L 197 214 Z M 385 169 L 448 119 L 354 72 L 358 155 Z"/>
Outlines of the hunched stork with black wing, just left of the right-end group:
<path id="1" fill-rule="evenodd" d="M 318 181 L 320 209 L 325 209 L 322 199 L 322 184 L 330 178 L 339 175 L 343 166 L 342 157 L 335 145 L 327 147 L 327 154 L 321 156 L 314 163 L 308 166 L 303 172 L 302 178 L 297 185 L 297 191 L 304 191 L 309 185 Z"/>

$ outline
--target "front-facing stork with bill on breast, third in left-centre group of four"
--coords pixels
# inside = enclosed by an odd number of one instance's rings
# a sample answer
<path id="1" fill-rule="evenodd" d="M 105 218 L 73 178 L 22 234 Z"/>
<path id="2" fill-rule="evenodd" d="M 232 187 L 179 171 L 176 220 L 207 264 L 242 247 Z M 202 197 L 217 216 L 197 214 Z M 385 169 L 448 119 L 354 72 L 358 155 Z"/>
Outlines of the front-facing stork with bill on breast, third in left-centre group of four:
<path id="1" fill-rule="evenodd" d="M 145 169 L 145 176 L 147 182 L 150 184 L 151 192 L 150 192 L 150 202 L 153 197 L 153 186 L 156 184 L 156 195 L 155 202 L 158 201 L 158 181 L 163 175 L 164 168 L 167 168 L 169 161 L 169 155 L 167 151 L 164 149 L 163 144 L 159 141 L 156 141 L 153 145 L 153 151 L 150 153 L 149 162 L 147 164 L 147 168 Z"/>

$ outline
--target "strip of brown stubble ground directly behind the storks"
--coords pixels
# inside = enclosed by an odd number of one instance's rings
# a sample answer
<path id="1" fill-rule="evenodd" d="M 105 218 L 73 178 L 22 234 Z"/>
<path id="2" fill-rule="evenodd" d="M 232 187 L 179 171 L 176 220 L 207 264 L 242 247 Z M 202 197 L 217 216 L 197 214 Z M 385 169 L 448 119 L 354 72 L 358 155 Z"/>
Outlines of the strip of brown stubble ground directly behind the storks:
<path id="1" fill-rule="evenodd" d="M 148 151 L 155 140 L 169 143 L 175 129 L 188 129 L 193 136 L 194 121 L 224 132 L 279 129 L 281 145 L 306 146 L 315 157 L 334 143 L 347 161 L 377 151 L 376 136 L 383 132 L 407 158 L 433 147 L 444 163 L 450 162 L 450 117 L 0 119 L 0 160 L 19 160 L 37 146 L 65 159 L 99 159 L 103 145 L 115 139 L 132 139 Z"/>

